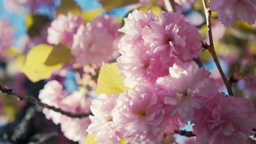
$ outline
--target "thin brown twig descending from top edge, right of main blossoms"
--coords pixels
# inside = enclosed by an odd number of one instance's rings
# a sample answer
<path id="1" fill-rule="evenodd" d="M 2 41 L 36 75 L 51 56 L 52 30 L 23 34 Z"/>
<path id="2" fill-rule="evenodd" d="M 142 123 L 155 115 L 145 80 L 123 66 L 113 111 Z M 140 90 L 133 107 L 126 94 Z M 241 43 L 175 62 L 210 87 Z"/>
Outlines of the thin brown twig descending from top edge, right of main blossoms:
<path id="1" fill-rule="evenodd" d="M 219 73 L 222 76 L 222 80 L 225 83 L 226 89 L 228 89 L 229 95 L 234 95 L 234 93 L 232 92 L 231 83 L 228 81 L 228 79 L 226 79 L 226 76 L 225 76 L 225 74 L 222 70 L 222 67 L 220 66 L 219 59 L 217 57 L 217 54 L 216 54 L 216 51 L 215 51 L 215 48 L 214 48 L 213 38 L 212 38 L 212 23 L 211 23 L 212 12 L 211 12 L 210 8 L 207 6 L 206 0 L 202 0 L 202 3 L 203 3 L 203 7 L 205 9 L 205 16 L 206 16 L 207 27 L 208 27 L 208 34 L 209 34 L 209 39 L 210 39 L 210 46 L 207 47 L 208 51 L 211 53 L 213 61 L 217 65 Z"/>

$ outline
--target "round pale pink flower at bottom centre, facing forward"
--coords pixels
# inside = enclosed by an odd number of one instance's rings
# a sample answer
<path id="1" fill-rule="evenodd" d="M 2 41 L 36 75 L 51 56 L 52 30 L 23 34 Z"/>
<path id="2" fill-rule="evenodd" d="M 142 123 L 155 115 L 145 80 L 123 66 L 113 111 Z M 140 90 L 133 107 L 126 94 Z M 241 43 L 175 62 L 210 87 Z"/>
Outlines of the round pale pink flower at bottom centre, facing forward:
<path id="1" fill-rule="evenodd" d="M 120 94 L 113 110 L 115 128 L 130 142 L 153 143 L 167 125 L 162 105 L 150 86 Z"/>

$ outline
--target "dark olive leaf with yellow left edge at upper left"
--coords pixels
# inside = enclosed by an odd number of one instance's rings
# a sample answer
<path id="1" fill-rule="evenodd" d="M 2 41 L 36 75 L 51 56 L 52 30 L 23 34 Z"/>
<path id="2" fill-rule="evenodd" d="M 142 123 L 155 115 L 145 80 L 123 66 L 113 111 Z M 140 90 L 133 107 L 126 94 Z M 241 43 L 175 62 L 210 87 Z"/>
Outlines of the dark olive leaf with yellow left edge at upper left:
<path id="1" fill-rule="evenodd" d="M 26 27 L 27 34 L 30 37 L 35 37 L 40 34 L 44 26 L 51 20 L 45 15 L 27 14 L 26 15 Z"/>

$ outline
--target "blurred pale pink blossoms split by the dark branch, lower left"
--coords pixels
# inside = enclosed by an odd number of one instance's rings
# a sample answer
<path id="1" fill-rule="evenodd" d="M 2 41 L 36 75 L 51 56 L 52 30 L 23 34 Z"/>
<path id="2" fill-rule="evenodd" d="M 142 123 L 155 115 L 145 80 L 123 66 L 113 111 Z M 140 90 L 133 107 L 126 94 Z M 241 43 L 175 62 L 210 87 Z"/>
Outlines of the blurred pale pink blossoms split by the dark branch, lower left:
<path id="1" fill-rule="evenodd" d="M 91 97 L 84 95 L 78 91 L 73 92 L 67 96 L 62 88 L 61 83 L 57 81 L 49 81 L 40 91 L 39 99 L 50 106 L 55 106 L 63 111 L 71 113 L 89 113 L 91 105 Z M 84 103 L 84 105 L 82 104 Z M 62 115 L 59 112 L 44 108 L 43 113 L 48 119 L 52 119 L 55 124 L 61 124 L 61 130 L 64 135 L 73 141 L 84 139 L 88 133 L 86 129 L 90 124 L 90 119 L 85 118 L 71 118 Z"/>

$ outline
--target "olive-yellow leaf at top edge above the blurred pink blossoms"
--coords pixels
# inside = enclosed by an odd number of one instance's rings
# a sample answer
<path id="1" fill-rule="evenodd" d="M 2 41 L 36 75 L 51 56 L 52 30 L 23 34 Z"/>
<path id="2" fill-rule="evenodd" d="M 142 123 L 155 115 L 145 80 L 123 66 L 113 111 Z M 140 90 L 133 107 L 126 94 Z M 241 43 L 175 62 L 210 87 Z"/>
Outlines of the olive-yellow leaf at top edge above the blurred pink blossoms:
<path id="1" fill-rule="evenodd" d="M 73 0 L 62 0 L 61 5 L 56 8 L 55 16 L 60 14 L 72 13 L 73 15 L 80 15 L 83 13 L 82 9 Z"/>

